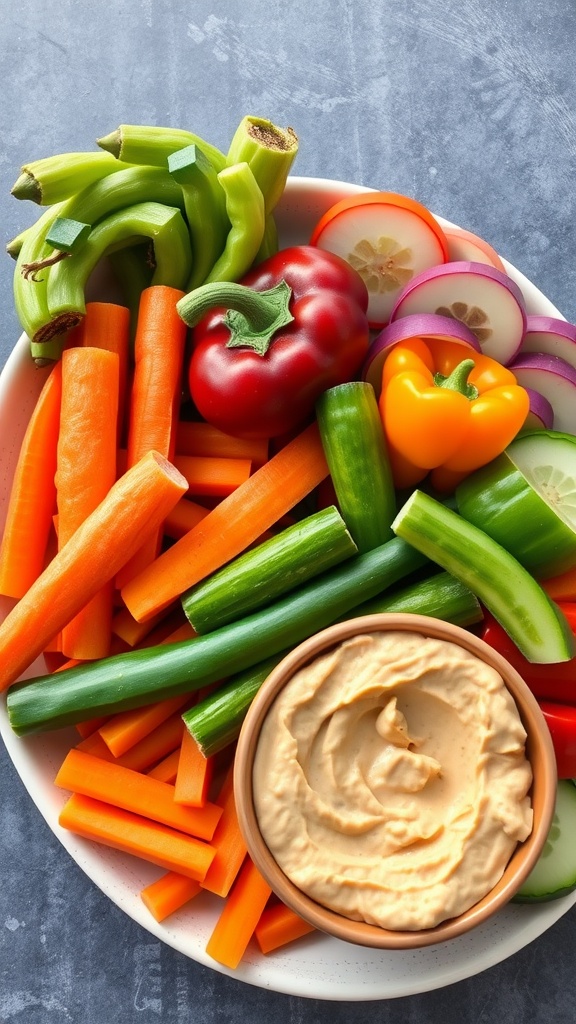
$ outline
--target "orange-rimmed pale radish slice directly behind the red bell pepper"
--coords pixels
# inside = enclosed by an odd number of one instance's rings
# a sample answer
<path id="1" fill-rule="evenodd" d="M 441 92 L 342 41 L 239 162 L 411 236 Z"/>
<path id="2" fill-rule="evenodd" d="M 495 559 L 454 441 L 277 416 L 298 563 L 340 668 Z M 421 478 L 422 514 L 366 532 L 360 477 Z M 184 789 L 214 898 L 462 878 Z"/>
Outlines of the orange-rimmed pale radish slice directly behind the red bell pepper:
<path id="1" fill-rule="evenodd" d="M 363 193 L 341 200 L 320 218 L 311 244 L 343 257 L 363 278 L 368 321 L 388 323 L 405 285 L 448 259 L 443 228 L 421 203 L 396 193 Z"/>

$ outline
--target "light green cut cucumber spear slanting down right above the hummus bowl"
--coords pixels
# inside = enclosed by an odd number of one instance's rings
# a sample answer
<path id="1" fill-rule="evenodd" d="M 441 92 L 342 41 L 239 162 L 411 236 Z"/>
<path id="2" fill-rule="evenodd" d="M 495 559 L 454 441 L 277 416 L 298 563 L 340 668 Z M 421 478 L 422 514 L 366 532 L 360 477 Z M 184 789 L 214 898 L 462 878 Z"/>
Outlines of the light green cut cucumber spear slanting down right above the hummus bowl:
<path id="1" fill-rule="evenodd" d="M 563 613 L 528 570 L 478 526 L 415 490 L 393 529 L 469 587 L 529 662 L 574 656 L 574 636 Z"/>

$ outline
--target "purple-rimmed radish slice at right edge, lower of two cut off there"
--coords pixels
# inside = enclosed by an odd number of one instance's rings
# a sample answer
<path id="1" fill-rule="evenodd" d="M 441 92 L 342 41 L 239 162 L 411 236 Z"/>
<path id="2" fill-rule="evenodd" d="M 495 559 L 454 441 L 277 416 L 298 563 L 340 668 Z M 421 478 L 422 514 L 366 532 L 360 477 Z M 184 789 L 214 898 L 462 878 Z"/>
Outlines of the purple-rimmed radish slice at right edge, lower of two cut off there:
<path id="1" fill-rule="evenodd" d="M 559 355 L 528 352 L 509 369 L 519 384 L 547 398 L 553 410 L 554 430 L 576 434 L 576 370 Z"/>

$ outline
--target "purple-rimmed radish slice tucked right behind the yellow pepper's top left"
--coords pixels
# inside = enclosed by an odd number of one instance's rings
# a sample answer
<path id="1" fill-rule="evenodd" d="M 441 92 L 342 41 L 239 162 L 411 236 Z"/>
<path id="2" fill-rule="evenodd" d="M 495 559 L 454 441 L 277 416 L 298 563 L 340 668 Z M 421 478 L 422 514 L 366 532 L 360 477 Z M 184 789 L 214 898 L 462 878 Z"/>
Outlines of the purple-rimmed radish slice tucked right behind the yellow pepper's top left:
<path id="1" fill-rule="evenodd" d="M 376 397 L 380 394 L 382 367 L 387 353 L 394 345 L 410 338 L 422 338 L 424 341 L 433 341 L 435 338 L 441 341 L 455 341 L 472 348 L 475 352 L 480 351 L 476 335 L 465 324 L 453 319 L 452 316 L 440 316 L 438 313 L 413 313 L 411 316 L 402 316 L 394 324 L 388 324 L 374 338 L 362 368 L 362 379 L 372 385 Z"/>

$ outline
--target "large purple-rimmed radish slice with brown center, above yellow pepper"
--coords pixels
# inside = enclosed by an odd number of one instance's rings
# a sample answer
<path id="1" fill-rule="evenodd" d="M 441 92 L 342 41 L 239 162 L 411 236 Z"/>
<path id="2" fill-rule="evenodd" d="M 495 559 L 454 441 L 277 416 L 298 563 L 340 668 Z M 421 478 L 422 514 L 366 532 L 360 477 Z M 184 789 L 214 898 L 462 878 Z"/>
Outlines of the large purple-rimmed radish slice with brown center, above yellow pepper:
<path id="1" fill-rule="evenodd" d="M 440 313 L 462 321 L 482 351 L 506 366 L 518 353 L 526 330 L 524 296 L 494 266 L 445 263 L 414 278 L 396 303 L 390 319 L 409 313 Z"/>

